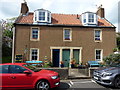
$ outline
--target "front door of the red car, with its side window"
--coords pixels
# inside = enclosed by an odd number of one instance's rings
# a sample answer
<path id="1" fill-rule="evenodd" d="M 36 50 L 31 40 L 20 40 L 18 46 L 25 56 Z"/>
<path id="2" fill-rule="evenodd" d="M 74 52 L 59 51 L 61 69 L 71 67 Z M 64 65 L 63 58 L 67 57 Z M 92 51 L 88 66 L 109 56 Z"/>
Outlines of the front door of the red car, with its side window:
<path id="1" fill-rule="evenodd" d="M 30 88 L 32 87 L 34 76 L 33 74 L 25 74 L 23 73 L 26 68 L 19 65 L 10 65 L 11 71 L 11 86 L 12 87 L 24 87 Z"/>

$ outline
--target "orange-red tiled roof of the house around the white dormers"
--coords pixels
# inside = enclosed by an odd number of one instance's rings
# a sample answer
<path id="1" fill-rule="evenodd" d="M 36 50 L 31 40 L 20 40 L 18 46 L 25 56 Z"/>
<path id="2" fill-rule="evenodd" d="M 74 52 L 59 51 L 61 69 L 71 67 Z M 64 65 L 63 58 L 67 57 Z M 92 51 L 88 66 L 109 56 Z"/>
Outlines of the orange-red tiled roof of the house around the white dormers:
<path id="1" fill-rule="evenodd" d="M 80 17 L 80 15 L 78 15 L 78 17 Z M 17 23 L 32 24 L 33 13 L 29 13 L 27 16 L 21 17 L 21 19 Z M 82 26 L 82 22 L 79 19 L 77 19 L 77 14 L 52 14 L 52 24 Z M 98 26 L 112 25 L 105 19 L 98 19 Z"/>

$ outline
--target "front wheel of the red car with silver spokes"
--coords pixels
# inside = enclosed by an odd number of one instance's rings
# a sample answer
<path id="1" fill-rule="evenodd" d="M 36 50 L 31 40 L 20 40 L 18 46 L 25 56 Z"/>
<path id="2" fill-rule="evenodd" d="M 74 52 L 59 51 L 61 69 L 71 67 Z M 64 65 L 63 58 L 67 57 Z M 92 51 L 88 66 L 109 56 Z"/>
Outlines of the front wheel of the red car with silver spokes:
<path id="1" fill-rule="evenodd" d="M 36 90 L 49 90 L 50 85 L 47 81 L 41 80 L 36 85 Z"/>

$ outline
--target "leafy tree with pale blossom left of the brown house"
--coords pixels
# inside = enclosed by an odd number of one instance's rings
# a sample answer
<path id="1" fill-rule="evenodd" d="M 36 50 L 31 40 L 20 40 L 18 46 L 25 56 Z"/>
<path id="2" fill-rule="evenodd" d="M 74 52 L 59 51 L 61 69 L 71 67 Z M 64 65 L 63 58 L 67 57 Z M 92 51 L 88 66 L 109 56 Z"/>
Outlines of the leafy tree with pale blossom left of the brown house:
<path id="1" fill-rule="evenodd" d="M 12 38 L 13 38 L 13 23 L 16 18 L 2 20 L 2 60 L 6 62 L 9 57 L 9 62 L 12 59 Z M 3 62 L 2 61 L 2 62 Z"/>

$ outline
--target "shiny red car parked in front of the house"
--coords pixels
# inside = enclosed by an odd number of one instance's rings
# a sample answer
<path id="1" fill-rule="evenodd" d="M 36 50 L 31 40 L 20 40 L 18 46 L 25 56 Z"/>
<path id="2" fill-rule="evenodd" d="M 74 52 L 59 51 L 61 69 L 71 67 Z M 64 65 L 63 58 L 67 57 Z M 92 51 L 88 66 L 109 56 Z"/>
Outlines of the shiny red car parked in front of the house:
<path id="1" fill-rule="evenodd" d="M 35 90 L 48 90 L 58 87 L 60 77 L 57 72 L 50 70 L 36 70 L 26 63 L 0 64 L 0 88 L 19 88 Z"/>

